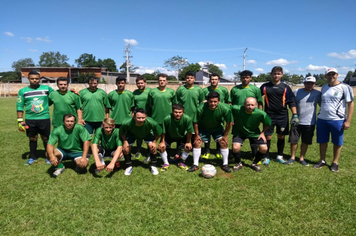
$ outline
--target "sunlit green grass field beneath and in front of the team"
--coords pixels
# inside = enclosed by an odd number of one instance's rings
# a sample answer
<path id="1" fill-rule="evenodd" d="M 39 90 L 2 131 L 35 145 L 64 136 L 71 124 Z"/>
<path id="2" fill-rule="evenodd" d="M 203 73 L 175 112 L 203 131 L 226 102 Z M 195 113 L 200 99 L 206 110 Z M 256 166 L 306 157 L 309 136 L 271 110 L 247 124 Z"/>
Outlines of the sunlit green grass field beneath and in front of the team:
<path id="1" fill-rule="evenodd" d="M 314 143 L 309 167 L 271 162 L 257 173 L 244 145 L 244 168 L 231 174 L 218 168 L 213 179 L 174 165 L 153 176 L 144 157 L 131 176 L 120 169 L 94 177 L 91 158 L 86 174 L 66 162 L 54 179 L 43 158 L 24 165 L 28 139 L 17 131 L 15 103 L 0 98 L 0 235 L 356 235 L 356 117 L 345 132 L 339 173 L 312 167 L 319 160 Z M 285 153 L 288 159 L 289 144 Z M 330 145 L 328 165 L 331 153 Z"/>

